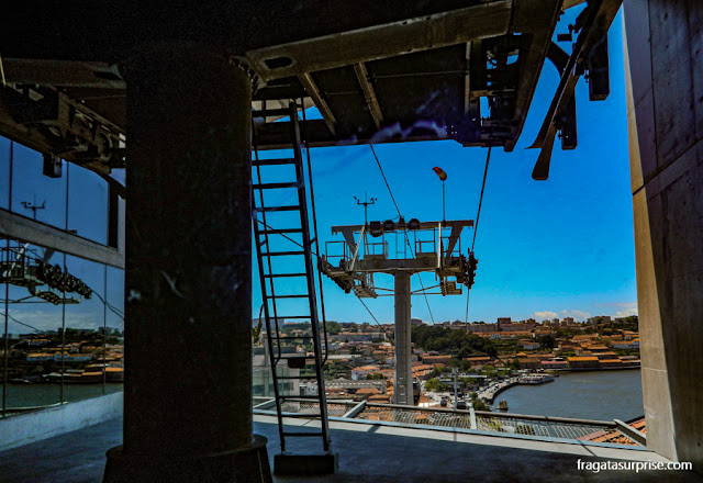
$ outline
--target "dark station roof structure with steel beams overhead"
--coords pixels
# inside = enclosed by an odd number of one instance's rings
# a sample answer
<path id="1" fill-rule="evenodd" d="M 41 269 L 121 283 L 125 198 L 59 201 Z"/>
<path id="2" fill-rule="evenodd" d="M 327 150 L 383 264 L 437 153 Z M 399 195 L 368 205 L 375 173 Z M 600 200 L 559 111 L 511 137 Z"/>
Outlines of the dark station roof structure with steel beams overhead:
<path id="1" fill-rule="evenodd" d="M 306 123 L 312 147 L 456 139 L 512 150 L 558 18 L 578 3 L 18 2 L 0 20 L 0 132 L 99 173 L 124 167 L 122 67 L 159 43 L 186 42 L 250 68 L 255 109 L 314 104 L 323 119 Z M 599 19 L 585 26 L 600 38 L 620 2 L 590 3 Z M 286 123 L 259 123 L 257 144 L 289 144 Z"/>

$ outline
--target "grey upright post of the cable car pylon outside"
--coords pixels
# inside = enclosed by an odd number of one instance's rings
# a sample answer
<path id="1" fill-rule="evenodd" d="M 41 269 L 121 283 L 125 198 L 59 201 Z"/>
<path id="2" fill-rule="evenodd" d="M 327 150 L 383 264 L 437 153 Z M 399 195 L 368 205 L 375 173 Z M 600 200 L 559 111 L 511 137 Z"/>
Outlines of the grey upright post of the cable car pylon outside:
<path id="1" fill-rule="evenodd" d="M 393 274 L 395 283 L 395 380 L 393 403 L 413 405 L 412 344 L 410 340 L 410 272 Z"/>

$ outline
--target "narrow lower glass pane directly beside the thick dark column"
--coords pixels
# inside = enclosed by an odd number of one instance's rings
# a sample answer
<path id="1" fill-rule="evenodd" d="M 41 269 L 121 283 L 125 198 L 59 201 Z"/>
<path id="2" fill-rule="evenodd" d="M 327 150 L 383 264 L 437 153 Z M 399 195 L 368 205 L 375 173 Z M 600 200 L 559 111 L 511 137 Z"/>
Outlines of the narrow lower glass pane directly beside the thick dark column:
<path id="1" fill-rule="evenodd" d="M 108 267 L 108 311 L 105 317 L 105 393 L 122 391 L 124 380 L 124 270 Z"/>

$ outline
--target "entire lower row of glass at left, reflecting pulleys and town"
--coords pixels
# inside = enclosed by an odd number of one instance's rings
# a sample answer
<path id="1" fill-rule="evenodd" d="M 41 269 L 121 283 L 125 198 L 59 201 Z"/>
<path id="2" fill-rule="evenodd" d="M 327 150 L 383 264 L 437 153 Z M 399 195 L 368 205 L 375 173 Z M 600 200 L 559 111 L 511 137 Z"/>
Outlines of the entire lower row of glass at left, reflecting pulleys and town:
<path id="1" fill-rule="evenodd" d="M 121 391 L 123 271 L 0 244 L 3 415 Z"/>

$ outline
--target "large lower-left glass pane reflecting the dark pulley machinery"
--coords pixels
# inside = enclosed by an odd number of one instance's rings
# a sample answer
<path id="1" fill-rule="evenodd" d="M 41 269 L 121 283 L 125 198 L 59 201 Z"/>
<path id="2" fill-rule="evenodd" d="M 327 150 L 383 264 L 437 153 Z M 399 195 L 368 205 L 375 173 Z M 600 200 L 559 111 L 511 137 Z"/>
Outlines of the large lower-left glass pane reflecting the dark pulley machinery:
<path id="1" fill-rule="evenodd" d="M 5 406 L 12 415 L 60 402 L 63 307 L 60 292 L 36 277 L 44 250 L 13 240 L 0 243 L 4 260 L 0 276 L 9 282 L 1 285 L 1 296 L 9 349 Z M 63 265 L 63 255 L 54 255 L 51 261 Z"/>

